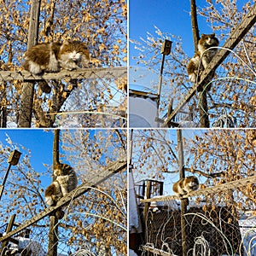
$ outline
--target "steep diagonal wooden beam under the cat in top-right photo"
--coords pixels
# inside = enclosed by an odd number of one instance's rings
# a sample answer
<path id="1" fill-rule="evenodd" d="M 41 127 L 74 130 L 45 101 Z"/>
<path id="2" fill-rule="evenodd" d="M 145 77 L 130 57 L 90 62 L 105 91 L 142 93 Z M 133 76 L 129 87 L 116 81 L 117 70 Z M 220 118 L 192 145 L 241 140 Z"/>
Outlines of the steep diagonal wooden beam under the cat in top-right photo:
<path id="1" fill-rule="evenodd" d="M 241 20 L 241 23 L 236 26 L 234 32 L 230 34 L 230 38 L 225 42 L 223 49 L 219 49 L 218 53 L 212 58 L 212 61 L 209 63 L 207 69 L 203 71 L 201 74 L 201 80 L 198 84 L 194 84 L 192 88 L 189 90 L 186 96 L 183 97 L 183 100 L 177 104 L 177 107 L 173 110 L 173 112 L 167 117 L 162 127 L 166 127 L 168 122 L 172 120 L 175 115 L 179 112 L 183 106 L 189 102 L 189 100 L 195 95 L 197 87 L 201 87 L 206 84 L 207 78 L 230 54 L 229 49 L 234 49 L 236 45 L 241 41 L 241 39 L 246 35 L 246 33 L 250 30 L 250 28 L 256 22 L 256 3 L 253 5 L 251 11 Z M 226 49 L 224 49 L 226 48 Z"/>

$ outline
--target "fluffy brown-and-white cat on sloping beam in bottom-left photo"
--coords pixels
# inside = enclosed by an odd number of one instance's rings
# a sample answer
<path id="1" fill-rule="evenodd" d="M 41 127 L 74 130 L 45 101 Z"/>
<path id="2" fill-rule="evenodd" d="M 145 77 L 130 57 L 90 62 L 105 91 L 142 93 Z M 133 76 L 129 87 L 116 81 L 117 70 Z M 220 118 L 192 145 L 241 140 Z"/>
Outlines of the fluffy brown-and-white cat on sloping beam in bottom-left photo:
<path id="1" fill-rule="evenodd" d="M 62 196 L 67 195 L 78 185 L 76 172 L 67 164 L 58 164 L 54 170 L 55 181 L 45 189 L 45 202 L 47 205 L 55 206 Z"/>

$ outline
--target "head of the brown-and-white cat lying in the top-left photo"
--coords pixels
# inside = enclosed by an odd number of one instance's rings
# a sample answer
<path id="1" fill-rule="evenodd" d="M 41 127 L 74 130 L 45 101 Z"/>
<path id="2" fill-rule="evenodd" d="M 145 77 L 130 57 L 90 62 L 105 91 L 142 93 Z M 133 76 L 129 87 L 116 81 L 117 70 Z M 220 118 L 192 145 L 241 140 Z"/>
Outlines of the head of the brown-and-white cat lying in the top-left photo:
<path id="1" fill-rule="evenodd" d="M 61 45 L 60 54 L 68 55 L 69 59 L 77 65 L 87 65 L 90 63 L 90 53 L 85 43 L 64 41 Z"/>

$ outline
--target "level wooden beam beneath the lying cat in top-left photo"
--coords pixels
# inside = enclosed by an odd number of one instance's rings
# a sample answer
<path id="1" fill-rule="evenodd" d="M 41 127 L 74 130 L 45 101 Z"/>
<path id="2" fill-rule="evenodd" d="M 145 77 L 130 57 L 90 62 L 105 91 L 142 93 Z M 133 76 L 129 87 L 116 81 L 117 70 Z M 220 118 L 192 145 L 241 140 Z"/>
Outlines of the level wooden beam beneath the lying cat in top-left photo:
<path id="1" fill-rule="evenodd" d="M 117 79 L 127 77 L 127 67 L 80 68 L 73 71 L 44 73 L 42 76 L 23 71 L 0 71 L 0 81 L 50 80 L 50 79 Z"/>

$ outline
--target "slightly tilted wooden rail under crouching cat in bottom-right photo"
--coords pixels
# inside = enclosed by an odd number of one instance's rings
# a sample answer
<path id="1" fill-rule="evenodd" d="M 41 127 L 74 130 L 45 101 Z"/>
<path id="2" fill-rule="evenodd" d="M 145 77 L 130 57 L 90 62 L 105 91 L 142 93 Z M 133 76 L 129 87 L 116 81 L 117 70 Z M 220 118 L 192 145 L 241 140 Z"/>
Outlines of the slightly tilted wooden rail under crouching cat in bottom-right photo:
<path id="1" fill-rule="evenodd" d="M 213 193 L 223 192 L 224 190 L 229 190 L 229 189 L 237 189 L 243 186 L 247 186 L 250 183 L 256 183 L 256 176 L 241 178 L 241 179 L 232 181 L 230 183 L 224 183 L 224 184 L 217 185 L 207 189 L 199 189 L 199 190 L 190 192 L 189 195 L 183 195 L 183 198 L 188 198 L 188 197 L 198 196 L 198 195 L 213 194 Z M 180 197 L 176 195 L 166 195 L 166 196 L 156 196 L 154 198 L 143 199 L 141 200 L 141 202 L 147 203 L 151 201 L 172 201 L 176 199 L 180 199 Z"/>

